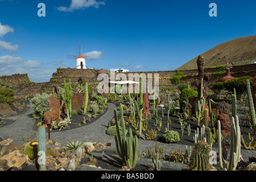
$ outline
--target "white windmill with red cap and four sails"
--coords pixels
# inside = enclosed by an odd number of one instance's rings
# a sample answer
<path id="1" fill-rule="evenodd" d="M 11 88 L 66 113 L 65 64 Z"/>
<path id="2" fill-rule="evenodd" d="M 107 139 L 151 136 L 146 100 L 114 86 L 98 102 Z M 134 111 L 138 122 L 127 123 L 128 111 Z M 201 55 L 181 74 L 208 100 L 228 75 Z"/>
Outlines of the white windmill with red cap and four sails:
<path id="1" fill-rule="evenodd" d="M 67 55 L 67 59 L 76 59 L 77 63 L 75 64 L 76 69 L 87 69 L 85 60 L 90 59 L 90 56 L 82 56 L 82 46 L 77 46 L 77 54 Z"/>

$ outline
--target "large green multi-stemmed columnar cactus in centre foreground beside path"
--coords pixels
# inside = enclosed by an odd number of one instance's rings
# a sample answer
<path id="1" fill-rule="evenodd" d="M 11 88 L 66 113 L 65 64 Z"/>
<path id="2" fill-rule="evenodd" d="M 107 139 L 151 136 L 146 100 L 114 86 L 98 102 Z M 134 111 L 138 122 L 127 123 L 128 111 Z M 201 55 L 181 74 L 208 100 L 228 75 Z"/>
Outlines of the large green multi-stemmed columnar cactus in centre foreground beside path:
<path id="1" fill-rule="evenodd" d="M 122 104 L 120 104 L 120 115 L 121 115 L 122 135 L 119 132 L 117 110 L 114 109 L 114 118 L 116 123 L 115 126 L 117 127 L 117 135 L 115 135 L 117 153 L 122 158 L 124 166 L 134 168 L 137 162 L 138 138 L 135 135 L 135 140 L 133 141 L 133 133 L 131 132 L 131 128 L 129 128 L 130 137 L 126 140 L 127 130 L 125 129 L 125 122 L 123 119 Z"/>

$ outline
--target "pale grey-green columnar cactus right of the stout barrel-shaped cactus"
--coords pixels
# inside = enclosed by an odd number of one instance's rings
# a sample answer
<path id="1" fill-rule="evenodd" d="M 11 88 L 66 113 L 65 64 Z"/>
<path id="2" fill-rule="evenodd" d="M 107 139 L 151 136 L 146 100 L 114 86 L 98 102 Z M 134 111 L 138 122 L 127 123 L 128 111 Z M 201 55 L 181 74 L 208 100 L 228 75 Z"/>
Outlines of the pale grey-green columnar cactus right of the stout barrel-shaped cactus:
<path id="1" fill-rule="evenodd" d="M 238 116 L 232 117 L 232 125 L 230 131 L 230 155 L 229 162 L 226 162 L 222 157 L 219 158 L 219 165 L 222 170 L 234 171 L 237 168 L 241 156 L 241 131 L 239 127 Z M 221 122 L 218 121 L 218 148 L 219 156 L 222 156 L 222 146 L 221 146 Z M 227 165 L 223 168 L 223 162 Z"/>

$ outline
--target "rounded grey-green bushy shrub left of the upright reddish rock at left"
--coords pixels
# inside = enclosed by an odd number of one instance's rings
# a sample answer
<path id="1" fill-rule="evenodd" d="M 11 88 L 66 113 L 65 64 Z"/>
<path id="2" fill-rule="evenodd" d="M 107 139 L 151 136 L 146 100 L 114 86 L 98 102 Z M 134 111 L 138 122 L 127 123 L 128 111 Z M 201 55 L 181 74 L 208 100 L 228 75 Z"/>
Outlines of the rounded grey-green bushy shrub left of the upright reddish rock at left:
<path id="1" fill-rule="evenodd" d="M 34 109 L 33 118 L 42 119 L 43 114 L 50 109 L 48 103 L 49 95 L 46 93 L 37 94 L 30 100 L 30 105 Z"/>

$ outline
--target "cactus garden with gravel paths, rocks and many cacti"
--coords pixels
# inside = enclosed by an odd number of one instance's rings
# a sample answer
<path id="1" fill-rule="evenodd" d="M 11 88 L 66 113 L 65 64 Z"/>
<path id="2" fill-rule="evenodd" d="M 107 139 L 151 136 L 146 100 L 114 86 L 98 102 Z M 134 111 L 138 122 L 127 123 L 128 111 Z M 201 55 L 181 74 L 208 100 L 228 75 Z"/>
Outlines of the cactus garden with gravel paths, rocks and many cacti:
<path id="1" fill-rule="evenodd" d="M 1 170 L 251 170 L 255 86 L 252 77 L 241 77 L 240 85 L 236 80 L 208 85 L 207 76 L 198 77 L 195 84 L 160 86 L 159 97 L 148 100 L 142 77 L 137 94 L 98 94 L 87 82 L 64 79 L 51 92 L 13 99 L 23 109 L 16 119 L 2 117 L 0 129 L 29 118 L 22 127 L 30 133 L 18 139 L 26 162 L 10 167 L 2 156 Z"/>

